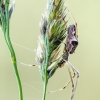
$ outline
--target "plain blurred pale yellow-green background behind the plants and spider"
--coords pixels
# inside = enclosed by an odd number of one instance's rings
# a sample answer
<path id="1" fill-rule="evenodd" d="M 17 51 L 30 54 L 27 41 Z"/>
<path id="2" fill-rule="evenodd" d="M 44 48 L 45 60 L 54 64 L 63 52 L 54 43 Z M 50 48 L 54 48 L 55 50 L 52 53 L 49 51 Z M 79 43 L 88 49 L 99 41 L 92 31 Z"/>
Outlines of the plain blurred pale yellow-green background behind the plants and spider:
<path id="1" fill-rule="evenodd" d="M 36 64 L 34 49 L 37 48 L 39 22 L 46 3 L 47 0 L 16 0 L 10 22 L 11 40 L 33 50 L 31 52 L 13 44 L 19 61 Z M 73 100 L 100 100 L 100 0 L 66 0 L 66 4 L 78 23 L 79 32 L 79 46 L 69 58 L 80 72 Z M 19 100 L 9 50 L 0 33 L 0 100 Z M 41 100 L 42 84 L 39 83 L 42 81 L 38 67 L 18 64 L 18 69 L 23 83 L 24 100 Z M 47 91 L 63 87 L 68 80 L 67 67 L 58 69 L 49 80 Z M 46 100 L 69 100 L 70 94 L 71 85 L 63 91 L 47 94 Z"/>

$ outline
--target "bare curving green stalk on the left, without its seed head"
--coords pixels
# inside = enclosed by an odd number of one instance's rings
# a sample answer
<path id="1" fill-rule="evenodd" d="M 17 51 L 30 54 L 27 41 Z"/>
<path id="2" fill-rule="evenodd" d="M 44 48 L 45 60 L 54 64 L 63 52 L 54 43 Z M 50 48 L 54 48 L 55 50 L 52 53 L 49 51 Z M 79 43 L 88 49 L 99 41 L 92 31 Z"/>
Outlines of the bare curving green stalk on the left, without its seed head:
<path id="1" fill-rule="evenodd" d="M 17 69 L 16 55 L 15 55 L 15 52 L 14 52 L 14 49 L 13 49 L 13 46 L 10 40 L 10 35 L 9 35 L 9 0 L 6 0 L 5 11 L 6 11 L 6 14 L 5 14 L 6 15 L 6 24 L 5 24 L 6 31 L 3 29 L 4 38 L 10 50 L 11 60 L 12 60 L 12 64 L 14 67 L 15 75 L 17 78 L 18 86 L 19 86 L 20 100 L 23 100 L 22 84 L 21 84 L 20 76 L 19 76 L 18 69 Z"/>

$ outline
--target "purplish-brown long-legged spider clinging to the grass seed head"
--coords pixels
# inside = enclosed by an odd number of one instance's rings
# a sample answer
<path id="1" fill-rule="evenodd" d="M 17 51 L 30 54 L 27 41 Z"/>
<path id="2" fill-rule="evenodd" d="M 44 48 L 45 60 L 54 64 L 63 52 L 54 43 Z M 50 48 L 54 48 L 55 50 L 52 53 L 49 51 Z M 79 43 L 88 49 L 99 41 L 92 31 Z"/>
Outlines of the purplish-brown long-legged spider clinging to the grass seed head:
<path id="1" fill-rule="evenodd" d="M 70 11 L 69 11 L 69 13 L 70 13 Z M 71 16 L 72 16 L 72 14 L 71 14 Z M 75 52 L 75 50 L 76 50 L 76 47 L 78 46 L 78 27 L 77 27 L 77 22 L 75 21 L 73 16 L 72 16 L 72 18 L 73 18 L 75 24 L 69 25 L 69 27 L 68 27 L 68 32 L 67 32 L 68 36 L 67 36 L 67 39 L 66 39 L 66 43 L 64 43 L 65 44 L 65 48 L 64 48 L 63 55 L 62 55 L 62 59 L 60 60 L 60 62 L 58 62 L 58 67 L 61 68 L 61 67 L 64 66 L 65 63 L 67 63 L 68 66 L 72 69 L 74 75 L 73 76 L 71 75 L 70 68 L 68 67 L 68 72 L 69 72 L 69 75 L 70 75 L 70 80 L 67 82 L 67 84 L 63 88 L 61 88 L 61 89 L 48 92 L 48 93 L 53 93 L 53 92 L 56 92 L 56 91 L 59 91 L 59 90 L 63 90 L 71 82 L 72 83 L 71 100 L 74 97 L 74 93 L 75 93 L 75 90 L 76 90 L 76 87 L 77 87 L 77 83 L 78 83 L 78 78 L 79 78 L 79 72 L 68 61 L 69 54 L 73 54 Z M 75 76 L 77 76 L 77 77 L 76 77 L 76 82 L 74 83 L 73 78 Z"/>

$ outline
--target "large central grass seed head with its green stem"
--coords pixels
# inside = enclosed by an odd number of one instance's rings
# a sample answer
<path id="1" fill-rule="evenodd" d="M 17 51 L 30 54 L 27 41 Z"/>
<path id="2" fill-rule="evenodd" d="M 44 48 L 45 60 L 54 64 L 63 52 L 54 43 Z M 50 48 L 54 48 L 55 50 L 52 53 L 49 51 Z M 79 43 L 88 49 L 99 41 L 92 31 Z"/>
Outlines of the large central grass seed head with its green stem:
<path id="1" fill-rule="evenodd" d="M 63 0 L 48 0 L 47 9 L 41 18 L 41 35 L 38 41 L 36 58 L 38 64 L 40 64 L 40 73 L 44 83 L 42 100 L 45 100 L 48 80 L 57 69 L 59 59 L 56 59 L 59 56 L 61 41 L 66 37 L 67 21 L 65 20 L 65 10 Z"/>

